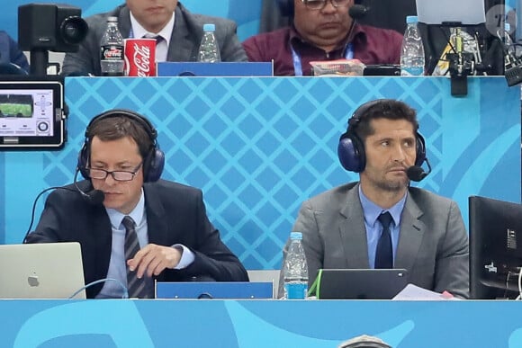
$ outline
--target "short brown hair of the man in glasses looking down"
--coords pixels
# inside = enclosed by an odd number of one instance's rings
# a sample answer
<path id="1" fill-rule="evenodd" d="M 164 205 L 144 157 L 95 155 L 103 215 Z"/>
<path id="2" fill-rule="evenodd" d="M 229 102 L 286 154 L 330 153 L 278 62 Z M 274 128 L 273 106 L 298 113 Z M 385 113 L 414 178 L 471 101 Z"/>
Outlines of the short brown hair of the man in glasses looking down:
<path id="1" fill-rule="evenodd" d="M 90 144 L 92 144 L 94 137 L 98 137 L 102 141 L 130 137 L 138 144 L 139 155 L 142 158 L 146 158 L 150 148 L 154 146 L 143 125 L 125 115 L 105 117 L 94 121 L 94 124 L 87 130 L 87 138 Z"/>

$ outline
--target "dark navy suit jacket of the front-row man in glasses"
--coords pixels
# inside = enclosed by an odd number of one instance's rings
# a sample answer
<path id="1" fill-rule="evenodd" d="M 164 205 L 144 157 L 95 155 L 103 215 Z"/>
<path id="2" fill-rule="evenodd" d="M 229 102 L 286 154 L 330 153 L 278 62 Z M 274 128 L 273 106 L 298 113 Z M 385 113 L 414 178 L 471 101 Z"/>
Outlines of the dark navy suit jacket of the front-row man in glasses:
<path id="1" fill-rule="evenodd" d="M 82 191 L 89 182 L 78 183 Z M 49 194 L 40 222 L 27 243 L 79 242 L 82 247 L 85 283 L 106 278 L 111 257 L 112 229 L 103 205 L 93 205 L 74 185 Z M 201 190 L 159 180 L 145 183 L 148 242 L 185 245 L 195 255 L 184 270 L 165 270 L 157 281 L 188 281 L 193 276 L 215 281 L 248 281 L 247 271 L 220 240 L 219 231 L 207 218 Z M 103 284 L 87 289 L 94 298 Z"/>

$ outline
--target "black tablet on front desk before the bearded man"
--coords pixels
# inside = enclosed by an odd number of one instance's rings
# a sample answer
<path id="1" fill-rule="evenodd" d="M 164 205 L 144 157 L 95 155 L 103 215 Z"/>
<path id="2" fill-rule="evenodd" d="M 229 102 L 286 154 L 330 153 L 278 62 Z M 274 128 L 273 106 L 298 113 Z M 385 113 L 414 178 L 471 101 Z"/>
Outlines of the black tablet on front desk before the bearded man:
<path id="1" fill-rule="evenodd" d="M 392 299 L 408 284 L 404 269 L 322 269 L 318 299 Z"/>

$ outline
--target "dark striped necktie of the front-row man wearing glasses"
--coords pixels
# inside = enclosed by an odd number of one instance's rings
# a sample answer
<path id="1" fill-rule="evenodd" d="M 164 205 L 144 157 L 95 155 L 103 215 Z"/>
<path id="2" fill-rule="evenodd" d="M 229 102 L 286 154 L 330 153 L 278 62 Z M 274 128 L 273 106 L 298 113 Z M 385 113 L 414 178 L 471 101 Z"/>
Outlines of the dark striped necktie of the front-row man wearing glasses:
<path id="1" fill-rule="evenodd" d="M 145 283 L 145 276 L 139 279 L 136 271 L 130 272 L 127 260 L 134 257 L 139 252 L 138 235 L 136 234 L 136 223 L 130 216 L 126 216 L 121 221 L 125 227 L 125 268 L 127 269 L 127 290 L 130 298 L 150 299 Z"/>

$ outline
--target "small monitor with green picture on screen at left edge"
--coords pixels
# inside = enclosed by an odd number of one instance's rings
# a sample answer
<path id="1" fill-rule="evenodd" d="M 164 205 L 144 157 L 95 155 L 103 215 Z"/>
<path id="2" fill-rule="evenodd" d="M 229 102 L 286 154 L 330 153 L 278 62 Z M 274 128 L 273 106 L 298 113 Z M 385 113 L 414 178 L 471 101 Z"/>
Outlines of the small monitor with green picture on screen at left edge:
<path id="1" fill-rule="evenodd" d="M 63 147 L 66 140 L 63 84 L 31 81 L 29 77 L 0 81 L 0 147 Z"/>

